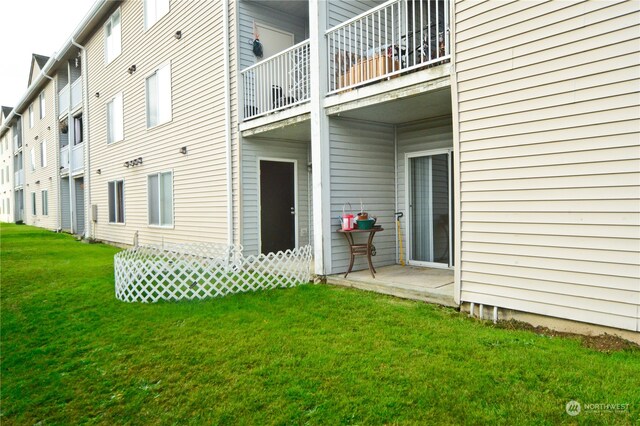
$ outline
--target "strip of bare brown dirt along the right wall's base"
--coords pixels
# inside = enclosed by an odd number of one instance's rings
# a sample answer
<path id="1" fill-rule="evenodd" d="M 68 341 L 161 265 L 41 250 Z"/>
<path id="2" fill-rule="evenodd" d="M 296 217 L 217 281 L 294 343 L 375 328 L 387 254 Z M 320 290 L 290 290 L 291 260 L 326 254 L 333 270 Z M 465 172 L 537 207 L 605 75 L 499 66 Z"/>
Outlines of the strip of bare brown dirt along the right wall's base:
<path id="1" fill-rule="evenodd" d="M 582 342 L 582 346 L 585 348 L 594 349 L 599 352 L 610 353 L 624 350 L 640 351 L 640 345 L 612 334 L 605 333 L 598 336 L 586 336 L 582 334 L 552 330 L 542 326 L 534 326 L 529 323 L 516 320 L 499 321 L 496 327 L 506 330 L 526 330 L 541 336 L 578 339 Z"/>

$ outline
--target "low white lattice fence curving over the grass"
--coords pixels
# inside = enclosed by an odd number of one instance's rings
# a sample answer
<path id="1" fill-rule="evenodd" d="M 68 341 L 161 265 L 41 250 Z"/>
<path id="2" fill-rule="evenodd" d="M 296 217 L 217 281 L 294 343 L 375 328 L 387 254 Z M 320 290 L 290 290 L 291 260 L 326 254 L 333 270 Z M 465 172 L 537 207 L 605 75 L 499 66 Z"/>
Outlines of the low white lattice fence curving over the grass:
<path id="1" fill-rule="evenodd" d="M 311 246 L 243 256 L 242 246 L 163 244 L 115 255 L 116 297 L 125 302 L 193 300 L 311 280 Z"/>

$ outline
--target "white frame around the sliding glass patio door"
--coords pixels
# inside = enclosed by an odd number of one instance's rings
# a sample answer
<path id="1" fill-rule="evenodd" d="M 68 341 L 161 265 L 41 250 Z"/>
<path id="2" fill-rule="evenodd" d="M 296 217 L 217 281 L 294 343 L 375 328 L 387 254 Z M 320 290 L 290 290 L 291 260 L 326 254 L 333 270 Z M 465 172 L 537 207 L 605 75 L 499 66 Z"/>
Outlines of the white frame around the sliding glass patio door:
<path id="1" fill-rule="evenodd" d="M 413 260 L 412 246 L 413 246 L 413 212 L 411 209 L 411 190 L 413 182 L 411 180 L 411 159 L 417 157 L 430 157 L 434 155 L 447 155 L 447 181 L 448 181 L 448 210 L 449 210 L 449 263 L 437 263 L 437 262 L 426 262 L 422 260 Z M 453 263 L 453 232 L 452 232 L 452 224 L 453 224 L 453 182 L 451 181 L 451 158 L 453 156 L 453 148 L 441 148 L 441 149 L 430 149 L 427 151 L 416 151 L 416 152 L 407 152 L 404 157 L 404 170 L 405 170 L 405 185 L 404 185 L 404 199 L 405 199 L 405 211 L 407 212 L 407 242 L 406 242 L 406 250 L 407 250 L 407 264 L 412 266 L 424 266 L 429 268 L 441 268 L 441 269 L 454 269 Z M 430 170 L 432 173 L 432 170 Z M 432 194 L 430 193 L 432 196 Z M 432 202 L 429 203 L 430 208 L 433 210 Z M 431 223 L 432 221 L 430 221 Z M 431 235 L 431 240 L 433 241 L 433 235 Z"/>

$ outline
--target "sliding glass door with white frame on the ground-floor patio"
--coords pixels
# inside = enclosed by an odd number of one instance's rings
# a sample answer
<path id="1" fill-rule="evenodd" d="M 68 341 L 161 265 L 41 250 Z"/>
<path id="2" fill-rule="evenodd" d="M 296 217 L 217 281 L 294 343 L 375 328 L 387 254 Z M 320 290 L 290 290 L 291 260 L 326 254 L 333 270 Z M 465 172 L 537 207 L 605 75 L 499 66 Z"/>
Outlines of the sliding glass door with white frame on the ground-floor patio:
<path id="1" fill-rule="evenodd" d="M 408 259 L 424 266 L 452 266 L 451 151 L 407 156 Z"/>

